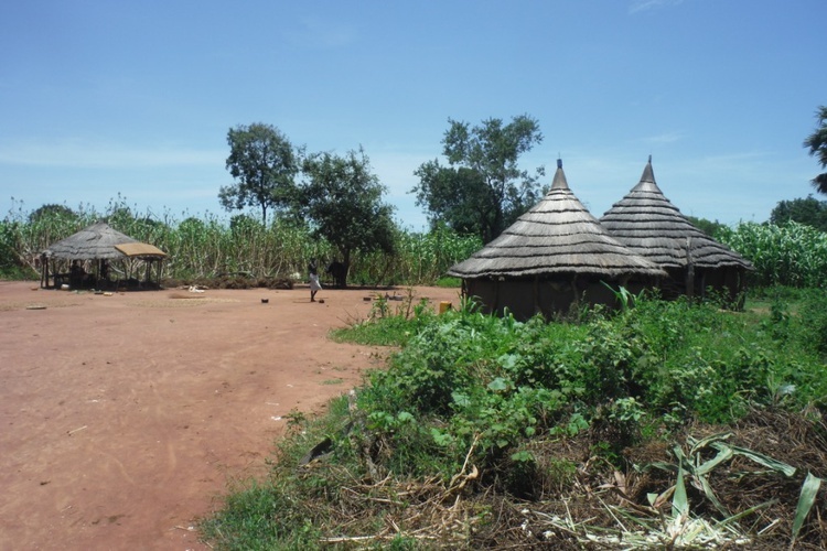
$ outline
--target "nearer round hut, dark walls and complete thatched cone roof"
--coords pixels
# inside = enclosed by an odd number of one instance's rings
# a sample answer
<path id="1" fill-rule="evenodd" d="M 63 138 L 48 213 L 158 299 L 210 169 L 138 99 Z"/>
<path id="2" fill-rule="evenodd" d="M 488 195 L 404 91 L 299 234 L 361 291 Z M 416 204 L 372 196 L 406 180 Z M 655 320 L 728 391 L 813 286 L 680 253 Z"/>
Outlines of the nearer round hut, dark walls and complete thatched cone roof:
<path id="1" fill-rule="evenodd" d="M 634 287 L 665 273 L 605 231 L 569 190 L 562 162 L 548 194 L 503 234 L 448 272 L 486 312 L 518 320 L 566 313 L 584 300 L 613 305 L 601 282 Z"/>

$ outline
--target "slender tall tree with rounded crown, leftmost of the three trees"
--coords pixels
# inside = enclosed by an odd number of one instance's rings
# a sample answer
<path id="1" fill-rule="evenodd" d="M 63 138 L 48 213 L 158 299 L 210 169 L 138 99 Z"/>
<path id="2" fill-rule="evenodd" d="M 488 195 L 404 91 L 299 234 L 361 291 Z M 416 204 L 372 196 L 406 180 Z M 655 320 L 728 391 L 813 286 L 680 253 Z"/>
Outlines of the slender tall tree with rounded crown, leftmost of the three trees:
<path id="1" fill-rule="evenodd" d="M 296 197 L 300 152 L 278 128 L 261 122 L 230 128 L 227 143 L 226 166 L 237 183 L 222 186 L 218 199 L 226 210 L 261 208 L 267 225 L 268 208 L 287 207 Z"/>

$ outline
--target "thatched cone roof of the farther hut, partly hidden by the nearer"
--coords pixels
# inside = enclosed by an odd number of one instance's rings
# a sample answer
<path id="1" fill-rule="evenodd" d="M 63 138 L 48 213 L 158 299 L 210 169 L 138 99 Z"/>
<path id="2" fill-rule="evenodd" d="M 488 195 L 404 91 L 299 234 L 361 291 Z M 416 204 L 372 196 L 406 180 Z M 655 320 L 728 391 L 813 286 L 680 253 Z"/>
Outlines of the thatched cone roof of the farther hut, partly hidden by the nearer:
<path id="1" fill-rule="evenodd" d="M 619 241 L 664 268 L 687 266 L 687 245 L 692 263 L 700 268 L 727 266 L 752 269 L 752 264 L 719 244 L 680 214 L 655 183 L 652 156 L 641 182 L 615 203 L 600 223 Z"/>

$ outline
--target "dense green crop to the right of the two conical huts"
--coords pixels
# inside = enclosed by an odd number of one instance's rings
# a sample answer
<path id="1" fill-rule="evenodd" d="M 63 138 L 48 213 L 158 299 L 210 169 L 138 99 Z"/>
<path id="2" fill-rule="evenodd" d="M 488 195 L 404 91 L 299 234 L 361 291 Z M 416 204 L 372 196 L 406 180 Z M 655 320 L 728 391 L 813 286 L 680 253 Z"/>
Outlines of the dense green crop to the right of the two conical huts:
<path id="1" fill-rule="evenodd" d="M 754 285 L 827 285 L 827 234 L 810 226 L 741 223 L 716 238 L 752 262 Z"/>

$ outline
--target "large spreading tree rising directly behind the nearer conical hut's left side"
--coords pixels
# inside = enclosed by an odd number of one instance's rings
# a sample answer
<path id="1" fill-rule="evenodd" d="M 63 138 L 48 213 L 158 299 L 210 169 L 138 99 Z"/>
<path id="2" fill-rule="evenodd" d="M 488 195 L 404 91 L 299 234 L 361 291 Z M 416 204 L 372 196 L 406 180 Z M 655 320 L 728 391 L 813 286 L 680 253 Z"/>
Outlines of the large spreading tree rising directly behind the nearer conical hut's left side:
<path id="1" fill-rule="evenodd" d="M 539 123 L 528 115 L 490 118 L 481 126 L 448 119 L 442 153 L 450 166 L 437 160 L 419 166 L 414 187 L 417 205 L 425 206 L 431 223 L 444 222 L 458 231 L 474 231 L 484 242 L 498 236 L 539 196 L 539 177 L 518 166 L 519 156 L 543 141 Z"/>

